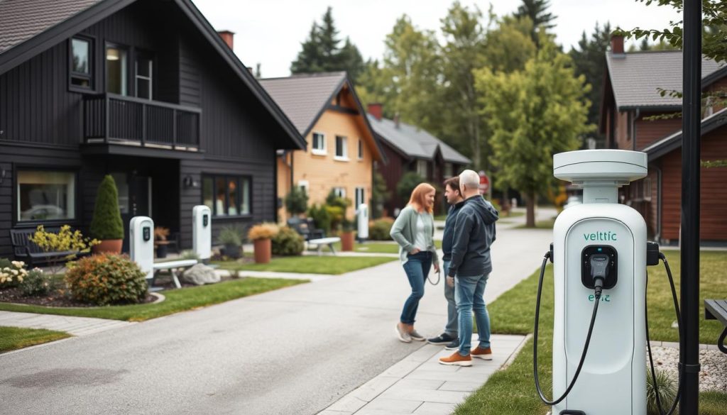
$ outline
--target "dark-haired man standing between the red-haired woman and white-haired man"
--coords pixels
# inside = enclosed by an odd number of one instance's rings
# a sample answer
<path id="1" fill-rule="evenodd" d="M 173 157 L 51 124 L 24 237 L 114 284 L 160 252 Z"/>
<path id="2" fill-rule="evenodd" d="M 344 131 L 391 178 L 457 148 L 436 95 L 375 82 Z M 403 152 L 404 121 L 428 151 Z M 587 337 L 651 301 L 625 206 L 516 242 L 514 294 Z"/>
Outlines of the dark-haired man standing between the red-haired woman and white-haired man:
<path id="1" fill-rule="evenodd" d="M 447 275 L 449 270 L 449 261 L 452 257 L 452 237 L 454 236 L 454 222 L 457 219 L 459 209 L 465 205 L 465 199 L 462 198 L 462 190 L 459 190 L 459 176 L 450 177 L 444 182 L 444 197 L 450 204 L 447 219 L 444 221 L 444 235 L 442 237 L 442 251 L 444 257 L 443 271 Z M 459 339 L 457 339 L 457 326 L 459 325 L 457 315 L 457 303 L 454 301 L 454 281 L 444 284 L 444 298 L 447 300 L 447 323 L 444 326 L 444 332 L 437 337 L 427 339 L 432 345 L 446 345 L 449 350 L 459 347 Z"/>

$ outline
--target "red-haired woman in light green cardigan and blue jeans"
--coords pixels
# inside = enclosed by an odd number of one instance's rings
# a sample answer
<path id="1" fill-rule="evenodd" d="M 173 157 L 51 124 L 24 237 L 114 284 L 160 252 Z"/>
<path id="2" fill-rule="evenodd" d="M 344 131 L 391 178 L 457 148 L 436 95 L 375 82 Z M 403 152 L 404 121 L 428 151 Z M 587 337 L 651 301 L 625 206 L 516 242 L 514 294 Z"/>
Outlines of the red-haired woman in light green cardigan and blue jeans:
<path id="1" fill-rule="evenodd" d="M 428 183 L 420 183 L 411 192 L 409 204 L 401 210 L 391 227 L 391 238 L 399 244 L 399 259 L 406 277 L 409 278 L 411 294 L 404 302 L 401 318 L 396 324 L 396 335 L 405 343 L 424 340 L 424 336 L 414 330 L 419 299 L 424 296 L 424 283 L 429 269 L 434 265 L 439 272 L 439 259 L 434 246 L 434 208 L 435 189 Z"/>

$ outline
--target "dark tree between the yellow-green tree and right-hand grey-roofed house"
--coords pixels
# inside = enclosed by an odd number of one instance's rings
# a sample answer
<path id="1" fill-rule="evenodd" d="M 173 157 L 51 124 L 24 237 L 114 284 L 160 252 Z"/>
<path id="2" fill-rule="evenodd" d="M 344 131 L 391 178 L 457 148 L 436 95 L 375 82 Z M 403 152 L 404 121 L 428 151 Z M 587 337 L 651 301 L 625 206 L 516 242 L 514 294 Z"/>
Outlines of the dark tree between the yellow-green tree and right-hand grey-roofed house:
<path id="1" fill-rule="evenodd" d="M 583 31 L 581 40 L 578 41 L 578 47 L 571 49 L 568 53 L 573 60 L 575 73 L 577 76 L 584 76 L 586 83 L 591 86 L 588 93 L 588 99 L 591 102 L 588 110 L 588 122 L 590 124 L 598 124 L 601 116 L 601 93 L 603 90 L 603 74 L 606 70 L 606 50 L 611 44 L 611 25 L 606 22 L 601 28 L 598 23 L 593 28 L 590 39 L 587 38 L 586 32 Z M 590 133 L 596 142 L 605 142 L 605 137 L 597 131 Z"/>

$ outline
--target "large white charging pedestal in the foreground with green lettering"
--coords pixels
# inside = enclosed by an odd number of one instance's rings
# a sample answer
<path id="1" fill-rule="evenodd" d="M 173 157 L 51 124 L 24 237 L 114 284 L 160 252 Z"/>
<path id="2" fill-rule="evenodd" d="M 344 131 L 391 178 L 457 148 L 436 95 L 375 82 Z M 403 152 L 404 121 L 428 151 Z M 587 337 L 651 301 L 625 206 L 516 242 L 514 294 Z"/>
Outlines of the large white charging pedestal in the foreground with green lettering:
<path id="1" fill-rule="evenodd" d="M 555 318 L 553 396 L 563 395 L 583 352 L 593 313 L 590 254 L 608 254 L 615 285 L 605 286 L 590 347 L 568 397 L 553 415 L 646 414 L 646 222 L 618 204 L 618 188 L 646 177 L 646 153 L 580 150 L 553 156 L 553 174 L 583 188 L 583 204 L 565 209 L 553 227 Z"/>

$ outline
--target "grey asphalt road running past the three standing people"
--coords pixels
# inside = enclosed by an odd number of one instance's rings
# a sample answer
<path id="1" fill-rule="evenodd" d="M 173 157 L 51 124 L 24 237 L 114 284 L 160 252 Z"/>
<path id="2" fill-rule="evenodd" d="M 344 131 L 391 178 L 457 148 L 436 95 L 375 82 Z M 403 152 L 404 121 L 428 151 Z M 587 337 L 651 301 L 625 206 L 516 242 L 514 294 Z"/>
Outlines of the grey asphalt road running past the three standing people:
<path id="1" fill-rule="evenodd" d="M 550 231 L 506 227 L 488 300 L 530 275 L 550 243 Z M 423 334 L 441 331 L 442 289 L 427 285 Z M 0 414 L 316 414 L 422 346 L 394 336 L 408 293 L 394 261 L 10 352 Z"/>

